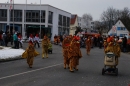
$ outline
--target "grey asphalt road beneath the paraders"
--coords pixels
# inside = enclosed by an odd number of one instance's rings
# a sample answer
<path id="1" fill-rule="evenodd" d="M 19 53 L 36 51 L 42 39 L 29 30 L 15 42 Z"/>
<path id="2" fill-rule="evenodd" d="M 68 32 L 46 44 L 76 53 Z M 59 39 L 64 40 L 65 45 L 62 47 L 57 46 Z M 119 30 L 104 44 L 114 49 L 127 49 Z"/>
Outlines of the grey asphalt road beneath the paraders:
<path id="1" fill-rule="evenodd" d="M 25 44 L 25 47 L 27 44 Z M 24 47 L 24 48 L 25 48 Z M 41 48 L 36 48 L 42 52 Z M 91 55 L 81 48 L 79 71 L 74 73 L 63 68 L 62 48 L 53 45 L 53 54 L 42 59 L 35 57 L 33 68 L 26 59 L 0 63 L 0 86 L 129 86 L 130 54 L 121 54 L 118 65 L 119 75 L 102 75 L 104 66 L 103 49 L 94 48 Z"/>

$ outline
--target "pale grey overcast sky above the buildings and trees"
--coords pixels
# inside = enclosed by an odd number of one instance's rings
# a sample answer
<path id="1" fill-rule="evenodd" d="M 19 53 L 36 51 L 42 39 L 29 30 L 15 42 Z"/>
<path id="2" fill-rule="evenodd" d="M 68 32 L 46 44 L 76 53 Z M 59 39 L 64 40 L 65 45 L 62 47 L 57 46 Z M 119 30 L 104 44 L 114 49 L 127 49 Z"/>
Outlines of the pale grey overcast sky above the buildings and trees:
<path id="1" fill-rule="evenodd" d="M 5 3 L 10 0 L 0 0 Z M 15 3 L 26 3 L 26 0 L 14 0 Z M 128 7 L 130 9 L 130 0 L 41 0 L 42 4 L 50 4 L 72 14 L 78 14 L 82 17 L 84 13 L 91 14 L 93 20 L 99 20 L 103 11 L 108 7 L 119 10 Z M 40 0 L 27 0 L 27 3 L 40 4 Z"/>

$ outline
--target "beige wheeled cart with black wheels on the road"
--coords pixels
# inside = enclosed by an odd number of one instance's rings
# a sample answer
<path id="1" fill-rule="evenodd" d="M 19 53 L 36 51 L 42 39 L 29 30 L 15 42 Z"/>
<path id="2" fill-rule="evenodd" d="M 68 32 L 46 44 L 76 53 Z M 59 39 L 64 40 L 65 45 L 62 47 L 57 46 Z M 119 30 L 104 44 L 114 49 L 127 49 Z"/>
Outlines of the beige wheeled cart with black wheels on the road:
<path id="1" fill-rule="evenodd" d="M 102 69 L 102 75 L 104 75 L 106 72 L 115 74 L 116 76 L 118 75 L 118 68 L 116 68 L 116 59 L 118 59 L 118 57 L 116 57 L 114 53 L 106 53 L 104 59 L 104 68 Z M 106 68 L 107 66 L 108 68 Z"/>

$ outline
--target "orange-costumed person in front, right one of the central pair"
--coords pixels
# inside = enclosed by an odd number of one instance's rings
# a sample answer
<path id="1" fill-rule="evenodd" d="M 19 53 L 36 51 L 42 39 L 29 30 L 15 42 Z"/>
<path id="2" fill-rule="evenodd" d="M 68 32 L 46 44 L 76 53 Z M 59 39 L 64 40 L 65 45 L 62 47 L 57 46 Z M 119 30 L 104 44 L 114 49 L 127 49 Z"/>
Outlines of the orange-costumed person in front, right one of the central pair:
<path id="1" fill-rule="evenodd" d="M 73 37 L 70 46 L 69 46 L 69 66 L 70 72 L 74 72 L 73 69 L 78 71 L 79 59 L 82 57 L 80 50 L 79 38 L 76 36 Z"/>

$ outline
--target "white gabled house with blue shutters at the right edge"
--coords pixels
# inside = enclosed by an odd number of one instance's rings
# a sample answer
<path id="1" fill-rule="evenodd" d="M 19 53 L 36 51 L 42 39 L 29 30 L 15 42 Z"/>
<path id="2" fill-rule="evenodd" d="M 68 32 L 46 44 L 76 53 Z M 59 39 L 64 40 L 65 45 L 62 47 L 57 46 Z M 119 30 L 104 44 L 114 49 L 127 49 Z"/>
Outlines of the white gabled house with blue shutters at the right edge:
<path id="1" fill-rule="evenodd" d="M 113 27 L 112 29 L 108 32 L 108 35 L 116 35 L 116 36 L 129 36 L 129 31 L 127 28 L 124 26 L 124 24 L 119 20 Z"/>

